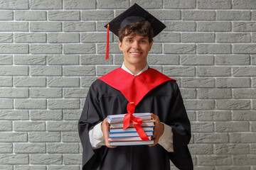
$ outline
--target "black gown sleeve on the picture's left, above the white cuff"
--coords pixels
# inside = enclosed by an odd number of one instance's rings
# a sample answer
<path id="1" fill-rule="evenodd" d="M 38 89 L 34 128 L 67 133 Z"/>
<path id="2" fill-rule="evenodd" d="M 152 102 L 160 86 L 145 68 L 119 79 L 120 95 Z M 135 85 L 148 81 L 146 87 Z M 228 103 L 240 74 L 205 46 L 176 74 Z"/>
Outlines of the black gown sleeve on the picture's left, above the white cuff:
<path id="1" fill-rule="evenodd" d="M 93 86 L 90 87 L 85 106 L 78 122 L 78 132 L 82 142 L 82 169 L 97 169 L 100 166 L 103 155 L 107 148 L 92 149 L 90 144 L 89 131 L 103 120 L 100 112 L 100 102 Z"/>

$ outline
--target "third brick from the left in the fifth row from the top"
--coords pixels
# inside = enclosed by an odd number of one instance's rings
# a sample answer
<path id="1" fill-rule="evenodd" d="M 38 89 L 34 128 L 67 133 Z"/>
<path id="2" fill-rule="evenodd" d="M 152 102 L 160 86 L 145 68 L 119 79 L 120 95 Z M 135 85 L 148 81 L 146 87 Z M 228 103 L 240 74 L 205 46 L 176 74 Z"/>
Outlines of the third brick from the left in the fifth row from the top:
<path id="1" fill-rule="evenodd" d="M 92 44 L 65 44 L 64 54 L 92 54 L 95 53 L 95 45 Z"/>

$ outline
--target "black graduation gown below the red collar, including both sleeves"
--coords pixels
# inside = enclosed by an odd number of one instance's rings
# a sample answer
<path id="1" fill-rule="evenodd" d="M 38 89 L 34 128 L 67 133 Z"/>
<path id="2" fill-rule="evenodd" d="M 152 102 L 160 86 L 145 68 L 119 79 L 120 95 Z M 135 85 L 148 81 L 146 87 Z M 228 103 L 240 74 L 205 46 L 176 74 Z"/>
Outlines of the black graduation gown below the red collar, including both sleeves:
<path id="1" fill-rule="evenodd" d="M 174 135 L 174 152 L 167 152 L 161 145 L 149 147 L 122 146 L 114 149 L 105 146 L 92 149 L 89 130 L 107 115 L 127 113 L 127 101 L 120 91 L 97 79 L 88 91 L 85 106 L 78 123 L 82 142 L 82 169 L 94 170 L 169 170 L 170 162 L 178 169 L 193 169 L 188 142 L 191 128 L 183 106 L 178 85 L 166 81 L 149 91 L 134 113 L 154 113 L 162 123 L 171 126 Z"/>

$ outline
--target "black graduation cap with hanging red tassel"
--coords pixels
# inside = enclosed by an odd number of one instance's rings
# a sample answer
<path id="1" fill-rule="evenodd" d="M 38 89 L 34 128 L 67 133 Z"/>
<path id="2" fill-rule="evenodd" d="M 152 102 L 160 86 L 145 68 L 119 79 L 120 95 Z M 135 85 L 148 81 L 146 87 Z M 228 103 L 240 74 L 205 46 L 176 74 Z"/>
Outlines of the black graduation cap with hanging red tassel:
<path id="1" fill-rule="evenodd" d="M 153 28 L 153 37 L 158 35 L 166 26 L 164 23 L 159 21 L 157 18 L 152 16 L 148 11 L 139 6 L 138 4 L 134 4 L 126 11 L 121 13 L 119 16 L 114 18 L 110 23 L 108 23 L 105 28 L 107 28 L 107 52 L 106 52 L 106 60 L 108 59 L 109 53 L 109 31 L 114 33 L 114 35 L 118 36 L 118 31 L 125 26 L 136 23 L 139 21 L 149 21 L 151 23 L 151 28 Z"/>

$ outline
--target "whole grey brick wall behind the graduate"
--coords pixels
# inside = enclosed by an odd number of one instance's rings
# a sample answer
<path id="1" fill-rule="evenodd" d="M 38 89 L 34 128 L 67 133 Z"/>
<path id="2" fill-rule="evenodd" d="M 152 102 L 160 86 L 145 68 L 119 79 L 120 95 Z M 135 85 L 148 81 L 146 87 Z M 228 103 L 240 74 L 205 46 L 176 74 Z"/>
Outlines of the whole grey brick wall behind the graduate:
<path id="1" fill-rule="evenodd" d="M 256 169 L 255 0 L 0 0 L 0 170 L 81 170 L 87 90 L 123 60 L 103 26 L 135 2 L 167 26 L 148 62 L 181 87 L 195 169 Z"/>

